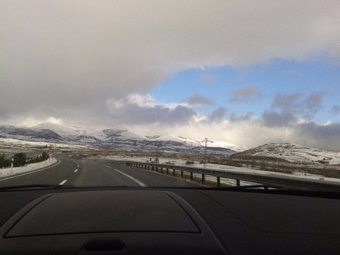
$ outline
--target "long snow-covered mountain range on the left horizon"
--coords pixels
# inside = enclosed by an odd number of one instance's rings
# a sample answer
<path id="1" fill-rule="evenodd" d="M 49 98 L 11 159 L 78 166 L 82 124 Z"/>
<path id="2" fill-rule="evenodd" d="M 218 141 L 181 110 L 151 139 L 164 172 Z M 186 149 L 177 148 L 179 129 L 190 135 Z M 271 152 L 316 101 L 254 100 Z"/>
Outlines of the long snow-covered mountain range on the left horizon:
<path id="1" fill-rule="evenodd" d="M 204 153 L 204 142 L 184 136 L 141 135 L 129 130 L 67 127 L 42 123 L 34 127 L 0 126 L 0 137 L 28 141 L 63 142 L 107 146 L 129 150 L 161 150 L 181 153 Z M 242 148 L 222 141 L 209 141 L 208 154 L 233 155 Z"/>

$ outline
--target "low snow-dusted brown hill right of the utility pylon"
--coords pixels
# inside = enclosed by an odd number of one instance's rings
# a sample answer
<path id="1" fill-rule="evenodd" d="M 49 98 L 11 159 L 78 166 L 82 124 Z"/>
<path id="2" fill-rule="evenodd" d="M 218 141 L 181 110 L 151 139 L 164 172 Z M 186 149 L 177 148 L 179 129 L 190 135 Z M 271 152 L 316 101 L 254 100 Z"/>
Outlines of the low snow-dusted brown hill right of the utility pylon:
<path id="1" fill-rule="evenodd" d="M 301 163 L 340 164 L 340 152 L 291 143 L 268 143 L 233 155 L 235 158 L 247 156 L 273 157 Z"/>

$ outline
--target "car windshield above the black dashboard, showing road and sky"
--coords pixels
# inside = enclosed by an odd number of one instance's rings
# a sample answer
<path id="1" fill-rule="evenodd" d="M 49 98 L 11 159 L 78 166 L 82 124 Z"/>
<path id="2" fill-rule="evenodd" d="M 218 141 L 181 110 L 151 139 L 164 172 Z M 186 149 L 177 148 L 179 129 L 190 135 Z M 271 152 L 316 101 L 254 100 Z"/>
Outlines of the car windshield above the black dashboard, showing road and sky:
<path id="1" fill-rule="evenodd" d="M 2 0 L 0 17 L 0 187 L 339 189 L 339 1 Z"/>

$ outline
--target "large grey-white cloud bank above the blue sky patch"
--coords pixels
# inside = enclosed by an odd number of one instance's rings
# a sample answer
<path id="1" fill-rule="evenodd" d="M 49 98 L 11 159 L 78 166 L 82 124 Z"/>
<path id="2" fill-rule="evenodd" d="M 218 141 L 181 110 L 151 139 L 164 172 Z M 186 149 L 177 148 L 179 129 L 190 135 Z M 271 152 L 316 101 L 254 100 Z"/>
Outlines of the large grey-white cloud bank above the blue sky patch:
<path id="1" fill-rule="evenodd" d="M 191 67 L 339 61 L 339 14 L 338 1 L 3 0 L 0 114 L 73 119 Z"/>

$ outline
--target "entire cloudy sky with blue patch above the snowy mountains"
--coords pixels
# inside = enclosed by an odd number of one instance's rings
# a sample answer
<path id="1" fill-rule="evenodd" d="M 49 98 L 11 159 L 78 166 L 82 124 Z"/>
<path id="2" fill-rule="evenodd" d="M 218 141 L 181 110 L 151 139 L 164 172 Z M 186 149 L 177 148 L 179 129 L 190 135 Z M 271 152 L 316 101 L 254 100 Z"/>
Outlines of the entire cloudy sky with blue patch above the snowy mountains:
<path id="1" fill-rule="evenodd" d="M 340 2 L 0 1 L 0 124 L 340 150 Z"/>

